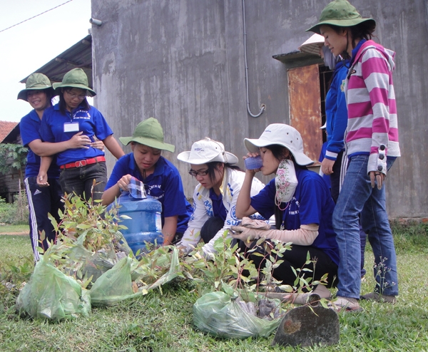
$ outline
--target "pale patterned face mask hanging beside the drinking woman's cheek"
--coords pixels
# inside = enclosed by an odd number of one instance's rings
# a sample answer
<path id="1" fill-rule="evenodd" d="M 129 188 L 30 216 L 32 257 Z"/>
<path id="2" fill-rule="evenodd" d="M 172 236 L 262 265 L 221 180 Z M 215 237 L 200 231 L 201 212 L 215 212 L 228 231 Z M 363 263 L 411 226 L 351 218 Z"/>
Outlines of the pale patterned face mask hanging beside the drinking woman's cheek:
<path id="1" fill-rule="evenodd" d="M 275 176 L 275 204 L 278 207 L 282 202 L 290 202 L 295 194 L 297 183 L 294 163 L 291 160 L 281 160 Z"/>

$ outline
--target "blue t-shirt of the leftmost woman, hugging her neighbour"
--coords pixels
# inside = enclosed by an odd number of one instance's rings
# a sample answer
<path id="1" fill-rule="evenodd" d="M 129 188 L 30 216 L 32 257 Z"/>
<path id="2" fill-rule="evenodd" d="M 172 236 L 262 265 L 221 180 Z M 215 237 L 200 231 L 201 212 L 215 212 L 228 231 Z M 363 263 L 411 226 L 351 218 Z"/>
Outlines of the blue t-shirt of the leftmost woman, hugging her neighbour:
<path id="1" fill-rule="evenodd" d="M 22 144 L 24 147 L 29 147 L 29 144 L 33 140 L 43 140 L 40 135 L 41 120 L 37 115 L 36 110 L 31 110 L 28 115 L 21 118 L 19 123 L 19 130 L 21 132 Z M 34 154 L 33 150 L 29 150 L 27 154 L 27 163 L 25 168 L 25 177 L 36 177 L 39 175 L 40 168 L 40 157 Z M 48 170 L 48 178 L 58 178 L 59 167 L 56 165 L 56 157 L 51 162 L 51 166 Z"/>

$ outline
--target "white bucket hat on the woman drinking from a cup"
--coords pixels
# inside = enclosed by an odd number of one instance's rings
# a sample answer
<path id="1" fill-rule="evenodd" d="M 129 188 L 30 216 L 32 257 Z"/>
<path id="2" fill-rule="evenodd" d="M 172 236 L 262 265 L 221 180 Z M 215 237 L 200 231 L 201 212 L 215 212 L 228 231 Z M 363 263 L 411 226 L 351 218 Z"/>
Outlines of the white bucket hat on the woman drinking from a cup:
<path id="1" fill-rule="evenodd" d="M 303 152 L 303 140 L 299 131 L 285 123 L 272 123 L 258 139 L 245 138 L 245 147 L 249 152 L 259 152 L 259 147 L 282 145 L 292 153 L 298 165 L 310 165 L 314 162 Z"/>

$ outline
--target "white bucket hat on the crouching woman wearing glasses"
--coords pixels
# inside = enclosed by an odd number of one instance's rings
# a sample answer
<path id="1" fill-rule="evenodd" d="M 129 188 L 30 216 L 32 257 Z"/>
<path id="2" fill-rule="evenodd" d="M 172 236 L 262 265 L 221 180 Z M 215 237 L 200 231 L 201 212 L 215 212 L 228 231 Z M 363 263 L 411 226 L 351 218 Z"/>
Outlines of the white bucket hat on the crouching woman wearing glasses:
<path id="1" fill-rule="evenodd" d="M 225 162 L 228 164 L 236 164 L 238 157 L 231 152 L 225 151 L 223 143 L 211 140 L 205 137 L 203 140 L 193 143 L 192 150 L 188 152 L 180 152 L 177 159 L 189 164 L 201 165 L 207 162 Z"/>

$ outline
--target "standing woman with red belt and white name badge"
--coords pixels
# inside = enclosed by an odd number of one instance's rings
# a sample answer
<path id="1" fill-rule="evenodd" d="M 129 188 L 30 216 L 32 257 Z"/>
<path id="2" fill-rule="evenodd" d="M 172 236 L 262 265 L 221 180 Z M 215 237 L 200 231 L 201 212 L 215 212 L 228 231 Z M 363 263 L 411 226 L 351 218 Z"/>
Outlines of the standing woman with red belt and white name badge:
<path id="1" fill-rule="evenodd" d="M 41 121 L 44 141 L 65 142 L 76 133 L 82 133 L 91 142 L 102 140 L 116 158 L 124 155 L 103 115 L 86 100 L 86 95 L 94 96 L 96 93 L 88 87 L 88 77 L 81 68 L 68 71 L 61 83 L 54 83 L 54 89 L 59 95 L 59 103 L 44 112 Z M 106 159 L 102 150 L 91 146 L 83 150 L 63 150 L 56 155 L 56 161 L 61 169 L 59 182 L 63 192 L 75 192 L 86 200 L 101 199 L 107 182 Z M 37 180 L 40 185 L 46 185 L 46 170 L 42 161 Z"/>

